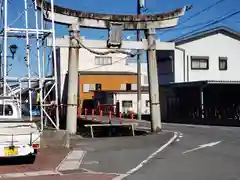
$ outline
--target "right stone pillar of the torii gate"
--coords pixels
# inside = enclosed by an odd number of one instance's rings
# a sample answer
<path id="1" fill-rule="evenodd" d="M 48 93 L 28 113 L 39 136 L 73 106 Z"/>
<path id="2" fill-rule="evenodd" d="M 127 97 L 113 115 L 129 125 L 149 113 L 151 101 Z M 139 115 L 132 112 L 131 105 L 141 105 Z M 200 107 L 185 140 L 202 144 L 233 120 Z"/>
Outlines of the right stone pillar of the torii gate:
<path id="1" fill-rule="evenodd" d="M 159 132 L 162 129 L 161 124 L 161 110 L 159 99 L 159 83 L 157 72 L 157 58 L 156 58 L 156 31 L 155 29 L 148 29 L 146 32 L 148 45 L 150 48 L 147 51 L 148 63 L 148 79 L 149 79 L 149 96 L 151 108 L 151 127 L 152 132 Z"/>

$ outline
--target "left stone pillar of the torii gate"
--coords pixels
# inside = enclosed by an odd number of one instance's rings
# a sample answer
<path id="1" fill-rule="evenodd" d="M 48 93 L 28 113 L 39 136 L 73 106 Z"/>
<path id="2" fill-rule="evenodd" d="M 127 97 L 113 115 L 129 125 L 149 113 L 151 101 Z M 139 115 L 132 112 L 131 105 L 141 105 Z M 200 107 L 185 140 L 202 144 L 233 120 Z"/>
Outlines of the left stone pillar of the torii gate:
<path id="1" fill-rule="evenodd" d="M 77 99 L 78 99 L 78 65 L 79 44 L 76 39 L 80 37 L 78 24 L 70 25 L 70 47 L 68 59 L 68 101 L 67 101 L 67 133 L 77 132 Z"/>

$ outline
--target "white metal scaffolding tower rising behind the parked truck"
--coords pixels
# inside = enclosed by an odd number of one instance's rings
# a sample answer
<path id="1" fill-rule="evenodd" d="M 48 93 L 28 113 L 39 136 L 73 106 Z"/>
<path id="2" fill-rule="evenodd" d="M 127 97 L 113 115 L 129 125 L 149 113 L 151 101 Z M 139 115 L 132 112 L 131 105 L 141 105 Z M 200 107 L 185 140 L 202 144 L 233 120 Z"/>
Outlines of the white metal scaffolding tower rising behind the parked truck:
<path id="1" fill-rule="evenodd" d="M 4 1 L 4 2 L 3 2 Z M 42 2 L 42 6 L 46 3 L 46 1 Z M 49 12 L 54 14 L 54 2 L 51 0 L 48 2 L 51 4 L 51 8 Z M 12 6 L 16 6 L 18 8 L 22 7 L 22 13 L 20 16 L 23 16 L 24 27 L 12 27 L 13 25 L 10 24 L 9 16 L 12 14 L 14 9 L 11 8 Z M 56 46 L 55 46 L 55 24 L 54 24 L 54 17 L 52 17 L 51 22 L 44 21 L 44 14 L 42 11 L 38 11 L 37 2 L 36 0 L 2 0 L 2 7 L 1 12 L 2 14 L 4 26 L 2 31 L 0 32 L 0 36 L 3 42 L 3 53 L 1 54 L 1 59 L 3 59 L 3 95 L 8 96 L 10 94 L 10 83 L 17 82 L 19 83 L 20 91 L 24 88 L 24 83 L 27 84 L 28 89 L 28 103 L 29 103 L 29 110 L 30 110 L 30 121 L 33 120 L 32 116 L 32 92 L 34 90 L 39 90 L 40 92 L 40 112 L 41 112 L 41 129 L 44 128 L 44 121 L 50 121 L 52 125 L 59 129 L 59 106 L 58 106 L 58 83 L 57 83 L 57 66 L 56 66 Z M 18 18 L 19 19 L 19 18 Z M 33 26 L 30 26 L 30 21 Z M 51 49 L 45 46 L 46 37 L 52 37 L 53 39 L 53 46 Z M 24 53 L 25 62 L 26 63 L 26 74 L 27 77 L 11 77 L 8 75 L 8 67 L 9 67 L 9 56 L 8 56 L 8 49 L 9 49 L 9 42 L 15 42 L 18 39 L 22 39 L 25 41 L 24 43 Z M 32 45 L 32 43 L 34 45 Z M 15 52 L 17 46 L 15 45 Z M 11 49 L 10 49 L 11 50 Z M 11 50 L 11 53 L 14 53 Z M 48 54 L 46 52 L 51 53 L 52 61 L 53 61 L 53 74 L 51 76 L 47 76 L 45 72 L 46 61 L 48 60 Z M 37 76 L 32 74 L 33 65 L 37 65 Z M 1 68 L 0 68 L 1 69 Z M 23 70 L 23 69 L 21 69 Z M 50 83 L 51 82 L 51 83 Z M 33 84 L 37 84 L 33 89 Z M 51 87 L 46 90 L 44 85 L 50 84 Z M 52 106 L 53 103 L 47 101 L 47 97 L 49 97 L 50 93 L 54 94 L 54 106 L 56 110 L 55 120 L 50 117 L 49 113 L 47 112 L 47 107 Z M 20 92 L 21 93 L 21 92 Z"/>

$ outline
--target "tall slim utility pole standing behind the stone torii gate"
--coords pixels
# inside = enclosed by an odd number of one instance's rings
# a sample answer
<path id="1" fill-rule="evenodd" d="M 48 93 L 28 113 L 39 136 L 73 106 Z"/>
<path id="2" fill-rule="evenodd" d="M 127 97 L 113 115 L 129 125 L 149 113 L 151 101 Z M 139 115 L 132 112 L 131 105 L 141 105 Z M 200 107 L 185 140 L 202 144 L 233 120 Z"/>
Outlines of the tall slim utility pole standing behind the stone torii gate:
<path id="1" fill-rule="evenodd" d="M 137 15 L 141 14 L 141 0 L 137 0 Z M 140 30 L 137 30 L 137 41 L 140 41 Z M 137 54 L 137 114 L 138 120 L 142 119 L 142 93 L 141 93 L 141 61 L 140 54 Z"/>

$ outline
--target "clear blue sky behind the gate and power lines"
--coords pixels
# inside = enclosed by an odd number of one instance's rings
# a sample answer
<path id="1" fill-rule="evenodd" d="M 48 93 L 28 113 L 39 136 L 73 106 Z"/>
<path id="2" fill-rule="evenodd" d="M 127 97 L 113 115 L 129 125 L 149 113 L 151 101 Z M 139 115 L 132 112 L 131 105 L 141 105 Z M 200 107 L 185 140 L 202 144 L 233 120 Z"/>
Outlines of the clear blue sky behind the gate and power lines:
<path id="1" fill-rule="evenodd" d="M 1 0 L 0 0 L 1 1 Z M 29 3 L 32 0 L 28 0 Z M 182 23 L 192 15 L 200 12 L 202 9 L 214 4 L 218 0 L 145 0 L 146 14 L 168 12 L 176 8 L 184 7 L 185 5 L 192 5 L 192 9 L 185 13 L 180 18 L 180 25 L 165 30 L 158 30 L 157 37 L 161 41 L 168 41 L 174 38 L 180 37 L 193 30 L 205 30 L 216 26 L 226 26 L 232 28 L 234 31 L 240 32 L 240 13 L 232 16 L 231 18 L 221 21 L 215 25 L 204 27 L 207 22 L 219 19 L 227 14 L 240 10 L 239 0 L 225 0 L 222 3 L 214 6 L 208 11 L 200 13 L 195 18 L 192 18 L 185 23 Z M 8 0 L 8 25 L 16 28 L 24 28 L 24 0 Z M 137 0 L 55 0 L 55 4 L 68 7 L 75 10 L 87 11 L 87 12 L 99 12 L 110 14 L 136 14 L 137 13 Z M 34 10 L 29 11 L 28 14 L 29 27 L 35 28 Z M 1 20 L 1 28 L 3 21 Z M 93 29 L 81 29 L 81 36 L 87 39 L 106 39 L 107 32 L 103 30 Z M 56 36 L 60 37 L 68 35 L 68 29 L 62 25 L 56 25 Z M 129 36 L 130 38 L 136 38 L 135 32 L 124 33 L 124 38 Z M 14 60 L 9 60 L 12 64 L 11 76 L 24 76 L 26 75 L 26 63 L 24 61 L 25 56 L 25 39 L 9 40 L 8 44 L 15 43 L 19 46 Z M 36 49 L 35 41 L 31 40 L 31 58 L 36 59 L 34 54 Z M 47 66 L 47 65 L 45 65 Z M 34 61 L 31 64 L 32 74 L 36 75 L 37 63 Z"/>

